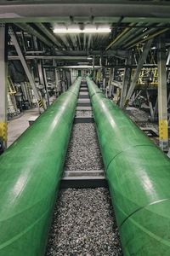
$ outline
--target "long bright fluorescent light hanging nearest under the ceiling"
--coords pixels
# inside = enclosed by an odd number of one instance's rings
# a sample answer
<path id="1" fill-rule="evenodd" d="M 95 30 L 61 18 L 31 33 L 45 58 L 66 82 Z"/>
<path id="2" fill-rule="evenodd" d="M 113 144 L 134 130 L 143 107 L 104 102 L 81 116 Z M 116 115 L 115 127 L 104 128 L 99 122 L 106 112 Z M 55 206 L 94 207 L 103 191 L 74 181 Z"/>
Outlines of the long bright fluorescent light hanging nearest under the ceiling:
<path id="1" fill-rule="evenodd" d="M 111 32 L 110 26 L 85 26 L 84 29 L 80 29 L 79 26 L 54 26 L 54 33 L 66 34 L 66 33 L 109 33 Z"/>

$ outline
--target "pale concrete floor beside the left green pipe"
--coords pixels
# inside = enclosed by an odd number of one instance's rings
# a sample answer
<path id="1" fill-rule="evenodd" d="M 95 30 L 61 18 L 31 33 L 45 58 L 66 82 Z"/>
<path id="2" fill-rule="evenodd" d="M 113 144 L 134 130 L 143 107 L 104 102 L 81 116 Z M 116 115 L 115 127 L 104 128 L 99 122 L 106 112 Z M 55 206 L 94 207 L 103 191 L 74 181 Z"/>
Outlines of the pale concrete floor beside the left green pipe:
<path id="1" fill-rule="evenodd" d="M 26 110 L 18 119 L 8 121 L 7 148 L 29 127 L 29 121 L 37 119 L 38 108 Z"/>

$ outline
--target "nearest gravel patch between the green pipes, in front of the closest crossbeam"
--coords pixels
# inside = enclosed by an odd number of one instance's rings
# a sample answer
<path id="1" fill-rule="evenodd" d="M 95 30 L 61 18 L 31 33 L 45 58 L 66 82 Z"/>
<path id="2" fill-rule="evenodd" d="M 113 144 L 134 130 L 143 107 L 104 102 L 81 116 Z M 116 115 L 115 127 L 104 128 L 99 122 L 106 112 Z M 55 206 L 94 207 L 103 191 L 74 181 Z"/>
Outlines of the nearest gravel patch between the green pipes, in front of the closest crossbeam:
<path id="1" fill-rule="evenodd" d="M 60 191 L 46 252 L 57 255 L 122 255 L 108 189 Z"/>

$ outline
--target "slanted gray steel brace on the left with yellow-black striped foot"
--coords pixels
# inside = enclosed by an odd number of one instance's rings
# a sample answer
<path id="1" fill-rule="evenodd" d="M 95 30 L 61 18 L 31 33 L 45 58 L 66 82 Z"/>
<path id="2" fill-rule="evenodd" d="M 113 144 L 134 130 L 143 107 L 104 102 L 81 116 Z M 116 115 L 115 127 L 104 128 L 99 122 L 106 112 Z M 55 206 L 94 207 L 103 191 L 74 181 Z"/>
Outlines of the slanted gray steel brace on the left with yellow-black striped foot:
<path id="1" fill-rule="evenodd" d="M 23 68 L 26 72 L 26 76 L 27 76 L 27 78 L 28 78 L 28 80 L 31 84 L 31 88 L 34 91 L 34 94 L 35 94 L 37 102 L 38 102 L 38 106 L 40 108 L 44 108 L 42 98 L 39 95 L 39 92 L 37 90 L 34 79 L 32 78 L 31 71 L 30 71 L 30 69 L 29 69 L 29 67 L 26 63 L 25 56 L 23 55 L 22 50 L 20 49 L 20 44 L 19 44 L 18 38 L 16 37 L 16 34 L 15 34 L 14 30 L 12 29 L 12 27 L 9 27 L 8 33 L 9 33 L 9 35 L 10 35 L 12 41 L 13 41 L 16 52 L 20 57 L 20 62 L 22 63 L 22 66 L 23 66 Z"/>

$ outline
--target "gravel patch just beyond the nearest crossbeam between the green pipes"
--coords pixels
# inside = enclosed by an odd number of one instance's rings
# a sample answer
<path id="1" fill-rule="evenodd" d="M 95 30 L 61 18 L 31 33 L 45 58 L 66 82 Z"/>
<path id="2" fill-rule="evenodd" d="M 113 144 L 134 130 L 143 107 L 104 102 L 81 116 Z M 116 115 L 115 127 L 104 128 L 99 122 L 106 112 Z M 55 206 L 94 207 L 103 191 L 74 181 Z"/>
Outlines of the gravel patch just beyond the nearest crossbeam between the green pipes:
<path id="1" fill-rule="evenodd" d="M 91 171 L 104 169 L 94 124 L 73 125 L 65 159 L 65 170 Z"/>

